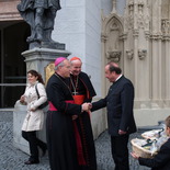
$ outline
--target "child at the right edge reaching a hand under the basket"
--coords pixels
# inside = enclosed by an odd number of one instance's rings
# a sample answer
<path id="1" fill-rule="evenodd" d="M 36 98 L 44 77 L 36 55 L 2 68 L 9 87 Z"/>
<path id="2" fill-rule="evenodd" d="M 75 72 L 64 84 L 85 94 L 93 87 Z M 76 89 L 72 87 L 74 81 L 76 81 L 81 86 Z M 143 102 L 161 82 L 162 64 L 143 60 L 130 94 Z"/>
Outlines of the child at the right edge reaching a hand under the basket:
<path id="1" fill-rule="evenodd" d="M 151 170 L 170 170 L 170 116 L 165 121 L 168 140 L 160 147 L 160 150 L 154 158 L 141 158 L 137 154 L 131 155 L 138 160 L 140 166 L 150 167 Z"/>

